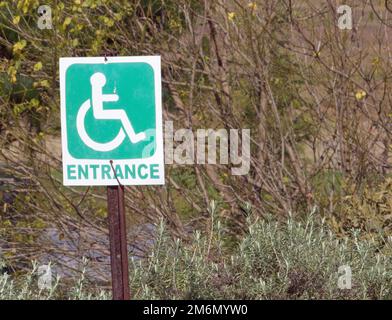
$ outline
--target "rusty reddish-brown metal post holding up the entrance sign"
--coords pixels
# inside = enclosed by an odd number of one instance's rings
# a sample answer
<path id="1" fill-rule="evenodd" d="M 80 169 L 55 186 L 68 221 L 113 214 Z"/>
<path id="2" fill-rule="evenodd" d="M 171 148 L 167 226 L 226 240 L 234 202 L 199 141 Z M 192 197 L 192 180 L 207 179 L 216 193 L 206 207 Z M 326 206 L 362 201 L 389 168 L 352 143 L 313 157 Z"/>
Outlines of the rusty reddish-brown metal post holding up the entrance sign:
<path id="1" fill-rule="evenodd" d="M 107 197 L 113 300 L 129 300 L 124 186 L 108 186 Z"/>

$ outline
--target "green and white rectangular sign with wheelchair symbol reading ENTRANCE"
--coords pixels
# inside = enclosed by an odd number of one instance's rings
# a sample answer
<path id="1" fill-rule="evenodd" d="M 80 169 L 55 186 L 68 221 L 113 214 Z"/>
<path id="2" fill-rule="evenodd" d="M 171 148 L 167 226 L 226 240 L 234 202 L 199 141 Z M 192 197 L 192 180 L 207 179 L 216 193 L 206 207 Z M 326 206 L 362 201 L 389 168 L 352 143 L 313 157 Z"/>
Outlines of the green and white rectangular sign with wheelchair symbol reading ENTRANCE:
<path id="1" fill-rule="evenodd" d="M 60 97 L 64 185 L 164 184 L 160 57 L 60 58 Z"/>

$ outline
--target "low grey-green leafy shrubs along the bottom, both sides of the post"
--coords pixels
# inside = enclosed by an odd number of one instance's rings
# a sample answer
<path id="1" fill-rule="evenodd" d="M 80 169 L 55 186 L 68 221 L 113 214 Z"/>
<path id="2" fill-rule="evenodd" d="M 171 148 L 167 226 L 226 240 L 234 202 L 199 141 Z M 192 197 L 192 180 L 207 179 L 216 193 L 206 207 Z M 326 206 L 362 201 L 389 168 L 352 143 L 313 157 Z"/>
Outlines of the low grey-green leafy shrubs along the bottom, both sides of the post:
<path id="1" fill-rule="evenodd" d="M 212 218 L 215 213 L 212 212 Z M 214 221 L 214 219 L 211 219 Z M 189 242 L 173 239 L 163 223 L 148 258 L 130 262 L 135 299 L 390 299 L 392 240 L 338 239 L 321 219 L 292 217 L 285 223 L 248 218 L 244 238 L 225 245 L 222 223 Z M 340 266 L 352 270 L 352 288 L 340 289 Z M 12 279 L 0 277 L 0 299 L 107 299 L 84 273 L 77 283 L 62 280 L 50 292 L 39 291 L 35 270 Z"/>

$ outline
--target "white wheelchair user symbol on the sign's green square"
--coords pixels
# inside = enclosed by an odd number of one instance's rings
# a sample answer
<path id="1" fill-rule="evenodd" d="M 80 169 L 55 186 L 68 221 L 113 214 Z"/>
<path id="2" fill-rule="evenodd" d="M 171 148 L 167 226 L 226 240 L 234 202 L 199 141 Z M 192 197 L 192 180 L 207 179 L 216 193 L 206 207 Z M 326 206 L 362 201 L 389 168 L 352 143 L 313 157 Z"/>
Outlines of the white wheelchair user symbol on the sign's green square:
<path id="1" fill-rule="evenodd" d="M 116 102 L 119 97 L 117 94 L 103 94 L 102 88 L 105 86 L 106 77 L 101 72 L 94 73 L 90 78 L 91 83 L 91 101 L 86 100 L 80 107 L 78 114 L 76 116 L 76 128 L 78 130 L 79 136 L 88 147 L 93 150 L 100 152 L 107 152 L 118 148 L 126 136 L 128 136 L 131 143 L 138 143 L 146 139 L 146 134 L 144 132 L 135 133 L 131 122 L 128 119 L 126 112 L 122 109 L 116 110 L 104 110 L 103 102 Z M 100 143 L 96 142 L 90 138 L 88 135 L 84 119 L 90 108 L 93 108 L 93 115 L 95 119 L 101 120 L 120 120 L 122 127 L 120 128 L 117 136 L 109 142 Z"/>

